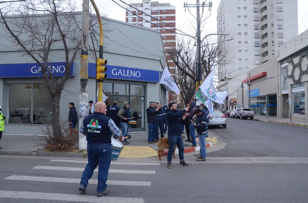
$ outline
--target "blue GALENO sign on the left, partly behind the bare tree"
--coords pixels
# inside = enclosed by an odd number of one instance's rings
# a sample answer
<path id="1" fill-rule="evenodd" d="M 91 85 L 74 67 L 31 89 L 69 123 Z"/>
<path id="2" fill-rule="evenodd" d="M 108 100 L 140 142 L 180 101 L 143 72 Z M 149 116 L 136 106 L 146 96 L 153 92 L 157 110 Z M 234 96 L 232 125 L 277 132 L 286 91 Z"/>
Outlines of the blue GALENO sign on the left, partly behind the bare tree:
<path id="1" fill-rule="evenodd" d="M 66 63 L 48 63 L 48 68 L 54 77 L 65 75 Z M 71 65 L 71 74 L 74 75 L 75 62 Z M 37 63 L 0 64 L 0 78 L 43 77 L 41 67 Z M 49 74 L 48 74 L 49 75 Z"/>

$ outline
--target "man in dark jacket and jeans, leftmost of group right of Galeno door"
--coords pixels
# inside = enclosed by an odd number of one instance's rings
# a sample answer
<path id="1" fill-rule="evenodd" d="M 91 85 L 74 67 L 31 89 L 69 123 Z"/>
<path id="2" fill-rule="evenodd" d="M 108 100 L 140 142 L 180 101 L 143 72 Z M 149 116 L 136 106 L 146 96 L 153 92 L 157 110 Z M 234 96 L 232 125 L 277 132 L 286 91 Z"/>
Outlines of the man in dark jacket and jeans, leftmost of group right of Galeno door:
<path id="1" fill-rule="evenodd" d="M 156 143 L 155 132 L 156 132 L 156 122 L 158 122 L 158 110 L 154 108 L 154 102 L 150 101 L 149 107 L 147 109 L 148 117 L 148 143 Z"/>

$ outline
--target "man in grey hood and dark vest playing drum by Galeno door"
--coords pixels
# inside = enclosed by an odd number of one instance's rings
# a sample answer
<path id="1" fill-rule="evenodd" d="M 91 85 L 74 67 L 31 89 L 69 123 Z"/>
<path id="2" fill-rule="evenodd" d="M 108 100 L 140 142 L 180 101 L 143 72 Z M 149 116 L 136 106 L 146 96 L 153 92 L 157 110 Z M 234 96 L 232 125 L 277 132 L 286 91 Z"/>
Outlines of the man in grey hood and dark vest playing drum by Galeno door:
<path id="1" fill-rule="evenodd" d="M 123 137 L 126 137 L 131 127 L 130 124 L 128 123 L 128 121 L 131 120 L 129 119 L 131 117 L 131 112 L 129 111 L 129 103 L 127 101 L 123 102 L 123 108 L 119 110 L 117 116 L 121 119 L 122 135 Z M 122 144 L 127 145 L 130 143 L 125 138 Z"/>

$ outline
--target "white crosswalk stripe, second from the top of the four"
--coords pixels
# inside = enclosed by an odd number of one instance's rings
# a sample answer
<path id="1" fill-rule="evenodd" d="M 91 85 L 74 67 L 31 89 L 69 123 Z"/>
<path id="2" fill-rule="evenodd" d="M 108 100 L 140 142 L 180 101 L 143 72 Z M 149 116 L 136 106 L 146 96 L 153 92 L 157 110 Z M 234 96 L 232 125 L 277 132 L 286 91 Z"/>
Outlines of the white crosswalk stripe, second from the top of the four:
<path id="1" fill-rule="evenodd" d="M 83 171 L 84 168 L 76 167 L 55 167 L 55 166 L 36 166 L 33 169 L 47 169 L 47 170 L 71 170 L 71 171 Z M 98 171 L 95 169 L 94 171 Z M 132 173 L 132 174 L 155 174 L 155 170 L 121 170 L 121 169 L 109 169 L 109 173 Z"/>

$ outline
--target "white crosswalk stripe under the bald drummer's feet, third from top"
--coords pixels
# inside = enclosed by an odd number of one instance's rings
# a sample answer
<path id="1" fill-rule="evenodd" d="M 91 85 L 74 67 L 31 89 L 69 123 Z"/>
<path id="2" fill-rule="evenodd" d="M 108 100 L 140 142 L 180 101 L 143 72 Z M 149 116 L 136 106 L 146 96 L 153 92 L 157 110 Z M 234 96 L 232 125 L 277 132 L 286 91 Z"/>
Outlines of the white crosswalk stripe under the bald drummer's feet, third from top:
<path id="1" fill-rule="evenodd" d="M 25 181 L 43 181 L 43 182 L 65 182 L 65 183 L 80 183 L 77 178 L 57 178 L 57 177 L 40 177 L 40 176 L 23 176 L 11 175 L 4 178 L 5 180 L 25 180 Z M 89 180 L 89 184 L 96 184 L 97 180 Z M 120 181 L 120 180 L 107 180 L 108 185 L 121 185 L 121 186 L 151 186 L 150 181 Z"/>

